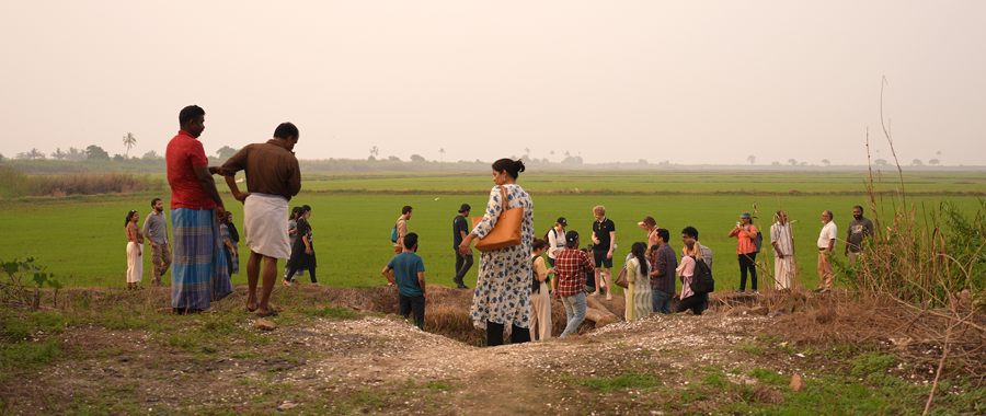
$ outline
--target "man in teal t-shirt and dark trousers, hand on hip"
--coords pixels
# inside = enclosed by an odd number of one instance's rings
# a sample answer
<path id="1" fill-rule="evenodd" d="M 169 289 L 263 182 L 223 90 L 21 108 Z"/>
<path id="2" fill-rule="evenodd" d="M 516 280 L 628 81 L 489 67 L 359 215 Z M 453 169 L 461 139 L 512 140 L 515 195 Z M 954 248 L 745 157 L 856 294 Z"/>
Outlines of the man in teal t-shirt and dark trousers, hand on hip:
<path id="1" fill-rule="evenodd" d="M 398 301 L 401 316 L 409 317 L 414 312 L 414 323 L 424 331 L 424 261 L 415 254 L 417 234 L 408 233 L 403 243 L 403 252 L 393 256 L 383 267 L 383 277 L 391 286 L 397 285 L 400 291 Z"/>

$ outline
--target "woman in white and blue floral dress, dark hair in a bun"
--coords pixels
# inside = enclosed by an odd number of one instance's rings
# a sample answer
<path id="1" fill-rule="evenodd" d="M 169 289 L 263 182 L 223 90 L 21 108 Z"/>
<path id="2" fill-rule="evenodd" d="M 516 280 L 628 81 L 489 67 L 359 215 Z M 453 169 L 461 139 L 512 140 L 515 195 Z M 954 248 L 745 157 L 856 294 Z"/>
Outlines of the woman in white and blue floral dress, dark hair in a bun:
<path id="1" fill-rule="evenodd" d="M 530 249 L 534 241 L 534 208 L 530 195 L 517 185 L 517 175 L 524 172 L 524 162 L 501 159 L 493 163 L 493 183 L 490 201 L 482 221 L 462 240 L 459 253 L 471 253 L 473 239 L 482 239 L 493 230 L 500 212 L 524 208 L 520 224 L 520 244 L 483 253 L 479 262 L 479 278 L 472 297 L 469 317 L 477 328 L 486 330 L 486 345 L 503 344 L 504 332 L 511 342 L 530 340 Z M 506 190 L 503 200 L 501 188 Z"/>

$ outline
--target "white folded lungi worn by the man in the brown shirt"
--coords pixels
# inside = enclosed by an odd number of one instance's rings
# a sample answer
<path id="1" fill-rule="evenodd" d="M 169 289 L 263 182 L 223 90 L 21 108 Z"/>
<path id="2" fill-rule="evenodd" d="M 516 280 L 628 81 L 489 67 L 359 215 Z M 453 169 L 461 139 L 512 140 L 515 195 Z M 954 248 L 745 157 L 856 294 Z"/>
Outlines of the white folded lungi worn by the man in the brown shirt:
<path id="1" fill-rule="evenodd" d="M 277 195 L 251 193 L 243 203 L 243 235 L 256 254 L 290 258 L 287 199 Z"/>

